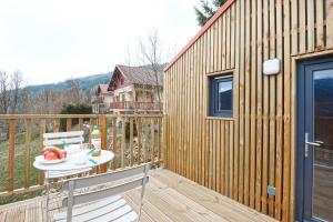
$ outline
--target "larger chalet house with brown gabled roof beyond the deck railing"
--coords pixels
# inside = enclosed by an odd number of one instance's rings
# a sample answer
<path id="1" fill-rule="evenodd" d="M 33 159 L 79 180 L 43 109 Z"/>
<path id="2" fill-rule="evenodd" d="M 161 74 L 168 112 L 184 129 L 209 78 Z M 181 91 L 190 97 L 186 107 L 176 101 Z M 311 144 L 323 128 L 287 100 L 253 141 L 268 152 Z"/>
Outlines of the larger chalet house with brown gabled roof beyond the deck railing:
<path id="1" fill-rule="evenodd" d="M 162 112 L 163 65 L 115 65 L 108 85 L 110 113 Z"/>

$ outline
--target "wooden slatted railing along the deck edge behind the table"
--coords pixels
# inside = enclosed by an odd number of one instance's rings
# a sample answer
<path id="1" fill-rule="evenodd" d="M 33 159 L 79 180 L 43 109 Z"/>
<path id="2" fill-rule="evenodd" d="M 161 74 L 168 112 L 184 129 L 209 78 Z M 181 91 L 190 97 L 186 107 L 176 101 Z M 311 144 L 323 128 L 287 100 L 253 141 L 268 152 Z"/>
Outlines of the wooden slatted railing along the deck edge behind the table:
<path id="1" fill-rule="evenodd" d="M 89 141 L 93 124 L 99 124 L 102 149 L 114 159 L 95 173 L 143 162 L 162 162 L 162 115 L 159 114 L 56 114 L 0 115 L 0 198 L 43 188 L 44 176 L 32 167 L 43 149 L 42 134 L 83 130 Z"/>

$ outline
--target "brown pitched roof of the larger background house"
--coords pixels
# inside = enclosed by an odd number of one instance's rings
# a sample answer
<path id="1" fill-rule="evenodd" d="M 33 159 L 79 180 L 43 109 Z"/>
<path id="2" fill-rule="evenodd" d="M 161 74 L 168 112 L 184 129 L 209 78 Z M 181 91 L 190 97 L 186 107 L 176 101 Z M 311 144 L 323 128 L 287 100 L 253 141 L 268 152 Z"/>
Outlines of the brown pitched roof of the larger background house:
<path id="1" fill-rule="evenodd" d="M 163 85 L 163 68 L 165 65 L 159 65 L 158 83 Z M 119 70 L 131 83 L 143 84 L 143 85 L 157 85 L 154 71 L 151 65 L 143 67 L 128 67 L 128 65 L 115 65 L 115 70 Z M 114 70 L 114 72 L 115 72 Z M 114 73 L 113 72 L 113 73 Z"/>

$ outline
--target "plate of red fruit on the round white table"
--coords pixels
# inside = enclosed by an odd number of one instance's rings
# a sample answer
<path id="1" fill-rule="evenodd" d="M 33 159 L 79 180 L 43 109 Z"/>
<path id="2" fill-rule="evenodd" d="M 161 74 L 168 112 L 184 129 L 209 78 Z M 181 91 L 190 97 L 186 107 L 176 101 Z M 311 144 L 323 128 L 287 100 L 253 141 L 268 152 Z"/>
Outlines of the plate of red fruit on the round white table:
<path id="1" fill-rule="evenodd" d="M 60 163 L 67 160 L 67 151 L 57 147 L 46 147 L 36 160 L 48 164 Z"/>

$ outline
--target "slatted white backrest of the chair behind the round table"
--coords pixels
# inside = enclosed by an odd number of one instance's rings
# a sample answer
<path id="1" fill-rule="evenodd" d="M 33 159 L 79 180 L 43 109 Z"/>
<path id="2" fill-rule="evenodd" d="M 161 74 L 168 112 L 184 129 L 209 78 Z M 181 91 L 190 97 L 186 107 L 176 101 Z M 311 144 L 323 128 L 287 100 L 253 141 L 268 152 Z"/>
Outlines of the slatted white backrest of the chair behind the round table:
<path id="1" fill-rule="evenodd" d="M 51 132 L 43 134 L 43 145 L 60 145 L 65 141 L 68 144 L 82 143 L 83 131 Z"/>

